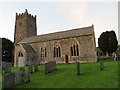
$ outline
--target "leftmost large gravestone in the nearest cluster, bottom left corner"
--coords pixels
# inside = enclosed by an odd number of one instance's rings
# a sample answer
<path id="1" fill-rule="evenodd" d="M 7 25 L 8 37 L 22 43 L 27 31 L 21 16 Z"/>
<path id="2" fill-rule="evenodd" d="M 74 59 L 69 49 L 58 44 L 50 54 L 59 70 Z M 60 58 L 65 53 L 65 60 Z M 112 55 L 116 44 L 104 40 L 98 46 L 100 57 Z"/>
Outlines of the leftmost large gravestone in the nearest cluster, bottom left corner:
<path id="1" fill-rule="evenodd" d="M 13 88 L 15 86 L 15 73 L 7 73 L 4 75 L 4 88 Z"/>

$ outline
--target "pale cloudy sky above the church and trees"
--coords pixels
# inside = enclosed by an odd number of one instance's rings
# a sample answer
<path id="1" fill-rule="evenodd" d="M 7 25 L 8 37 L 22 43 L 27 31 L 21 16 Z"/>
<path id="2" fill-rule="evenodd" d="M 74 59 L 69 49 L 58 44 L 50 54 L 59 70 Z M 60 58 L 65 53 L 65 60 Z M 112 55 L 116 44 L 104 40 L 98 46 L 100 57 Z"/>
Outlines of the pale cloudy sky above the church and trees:
<path id="1" fill-rule="evenodd" d="M 37 15 L 37 34 L 82 28 L 94 24 L 96 45 L 102 32 L 118 38 L 118 2 L 1 2 L 0 37 L 14 41 L 15 15 Z M 119 43 L 120 44 L 120 43 Z"/>

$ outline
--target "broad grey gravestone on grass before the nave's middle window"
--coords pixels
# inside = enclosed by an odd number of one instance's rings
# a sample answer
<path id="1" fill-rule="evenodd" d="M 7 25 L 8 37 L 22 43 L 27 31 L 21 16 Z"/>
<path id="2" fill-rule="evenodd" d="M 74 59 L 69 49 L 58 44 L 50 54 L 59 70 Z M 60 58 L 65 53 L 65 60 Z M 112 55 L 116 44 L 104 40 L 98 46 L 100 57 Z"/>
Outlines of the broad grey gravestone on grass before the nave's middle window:
<path id="1" fill-rule="evenodd" d="M 48 63 L 45 63 L 45 74 L 50 73 L 54 70 L 56 70 L 56 62 L 55 61 L 49 61 Z"/>

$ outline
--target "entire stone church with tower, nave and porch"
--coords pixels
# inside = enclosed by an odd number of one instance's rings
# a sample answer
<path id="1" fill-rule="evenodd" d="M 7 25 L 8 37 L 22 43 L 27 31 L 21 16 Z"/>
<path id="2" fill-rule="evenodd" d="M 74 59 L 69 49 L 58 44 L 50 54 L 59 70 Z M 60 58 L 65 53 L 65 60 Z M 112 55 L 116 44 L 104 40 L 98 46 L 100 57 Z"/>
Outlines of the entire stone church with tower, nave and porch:
<path id="1" fill-rule="evenodd" d="M 14 66 L 79 61 L 96 62 L 94 26 L 37 35 L 36 15 L 16 13 Z"/>

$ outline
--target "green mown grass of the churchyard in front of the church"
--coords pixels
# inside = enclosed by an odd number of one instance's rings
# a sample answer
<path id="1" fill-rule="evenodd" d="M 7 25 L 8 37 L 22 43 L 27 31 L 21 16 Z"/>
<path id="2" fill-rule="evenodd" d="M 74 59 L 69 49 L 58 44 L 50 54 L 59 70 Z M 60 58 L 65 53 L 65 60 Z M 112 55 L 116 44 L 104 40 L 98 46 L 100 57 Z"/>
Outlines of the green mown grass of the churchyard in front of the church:
<path id="1" fill-rule="evenodd" d="M 40 65 L 39 71 L 31 74 L 31 82 L 16 88 L 118 88 L 118 61 L 104 61 L 102 71 L 99 66 L 99 62 L 81 64 L 81 75 L 77 76 L 76 64 L 58 64 L 57 70 L 47 75 Z"/>

